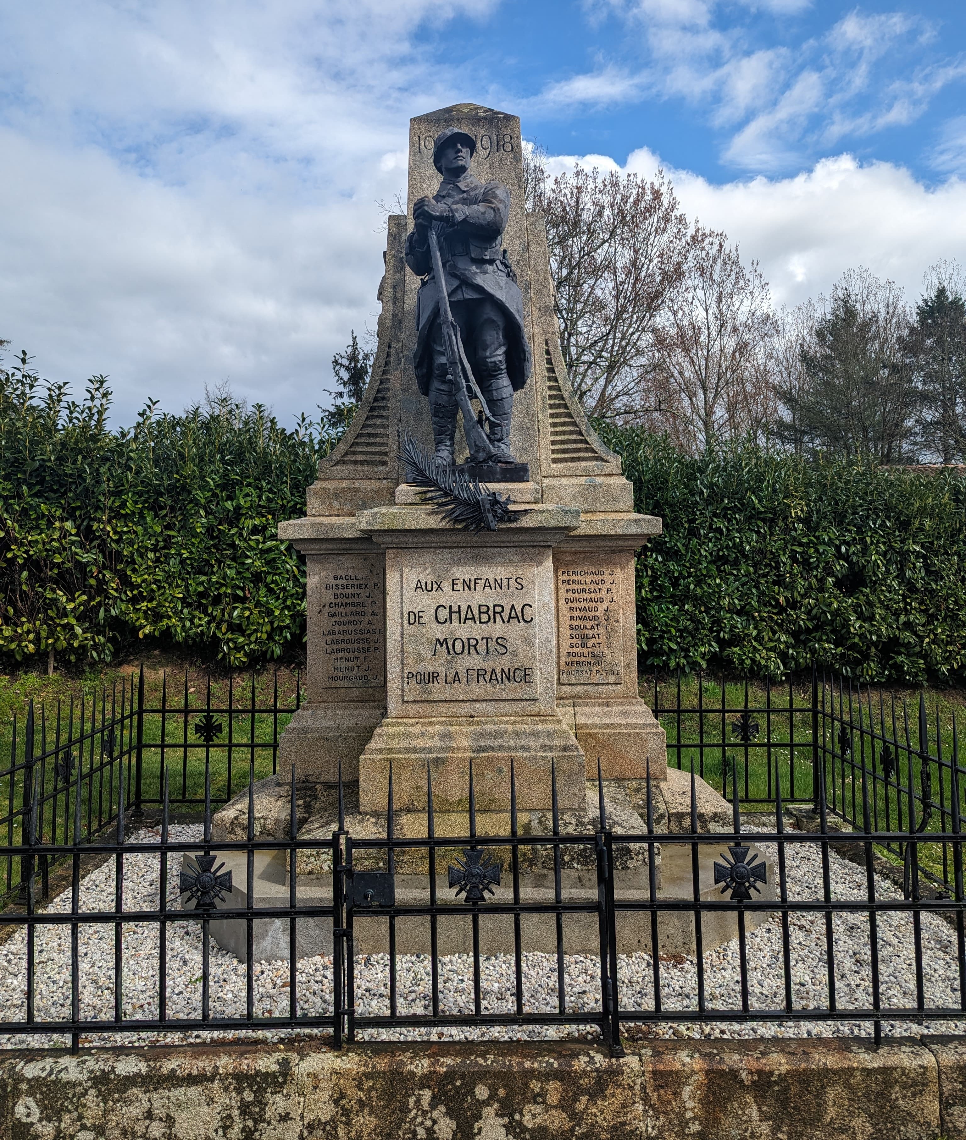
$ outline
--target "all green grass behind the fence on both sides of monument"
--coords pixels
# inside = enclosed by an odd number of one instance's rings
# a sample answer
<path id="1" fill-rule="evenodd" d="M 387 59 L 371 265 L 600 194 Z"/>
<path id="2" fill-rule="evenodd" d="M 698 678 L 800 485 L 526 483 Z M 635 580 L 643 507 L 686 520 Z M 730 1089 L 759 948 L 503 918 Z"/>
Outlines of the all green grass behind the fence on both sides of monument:
<path id="1" fill-rule="evenodd" d="M 0 764 L 9 765 L 15 717 L 21 764 L 13 775 L 0 776 L 0 819 L 6 817 L 0 836 L 7 844 L 18 842 L 21 837 L 22 760 L 29 701 L 34 701 L 36 710 L 34 755 L 43 748 L 48 751 L 43 765 L 43 788 L 48 795 L 43 833 L 48 840 L 56 836 L 63 841 L 74 809 L 72 791 L 65 785 L 65 762 L 70 763 L 71 782 L 76 777 L 78 763 L 82 764 L 86 776 L 94 773 L 92 780 L 84 780 L 92 791 L 84 791 L 81 804 L 86 831 L 96 832 L 113 816 L 122 781 L 127 801 L 130 804 L 135 798 L 135 720 L 130 715 L 122 717 L 122 712 L 130 714 L 136 702 L 137 682 L 136 667 L 54 677 L 30 673 L 0 675 L 0 757 L 6 758 L 6 763 Z M 682 678 L 680 683 L 655 685 L 651 677 L 642 679 L 641 695 L 656 708 L 667 733 L 669 764 L 685 771 L 693 767 L 714 788 L 726 791 L 729 798 L 733 795 L 732 773 L 736 773 L 739 799 L 747 809 L 764 809 L 773 804 L 777 781 L 780 781 L 786 804 L 812 800 L 810 678 L 769 687 L 734 679 L 724 684 L 707 678 L 699 681 L 696 676 Z M 928 751 L 932 757 L 941 755 L 948 764 L 958 746 L 955 725 L 957 716 L 963 716 L 966 697 L 961 690 L 927 690 L 925 695 Z M 145 809 L 152 812 L 160 807 L 164 769 L 171 804 L 180 817 L 201 809 L 205 762 L 210 767 L 216 804 L 224 803 L 247 784 L 251 765 L 255 779 L 269 775 L 274 746 L 291 718 L 295 698 L 297 674 L 292 669 L 209 678 L 201 669 L 186 671 L 177 663 L 167 674 L 160 667 L 147 668 L 141 750 Z M 847 689 L 844 692 L 826 690 L 825 701 L 829 712 L 833 709 L 839 715 L 844 712 L 845 719 L 855 726 L 861 722 L 868 730 L 871 717 L 875 734 L 870 739 L 868 732 L 846 733 L 849 751 L 843 757 L 839 726 L 826 720 L 823 741 L 829 756 L 826 774 L 829 808 L 861 824 L 864 763 L 867 772 L 876 775 L 869 785 L 869 811 L 875 829 L 907 829 L 910 779 L 916 793 L 923 793 L 922 766 L 916 755 L 919 691 L 894 689 L 880 693 L 876 690 L 870 694 L 863 690 L 860 699 L 858 691 L 850 697 Z M 206 716 L 209 707 L 210 717 Z M 81 715 L 89 738 L 83 742 L 78 740 Z M 113 741 L 99 731 L 100 725 L 112 718 L 123 719 Z M 211 730 L 210 743 L 204 740 L 206 726 Z M 885 779 L 888 769 L 884 767 L 888 757 L 884 756 L 884 741 L 878 738 L 888 741 L 893 754 L 888 779 Z M 56 757 L 50 755 L 55 750 Z M 59 772 L 56 771 L 57 758 Z M 928 769 L 935 808 L 927 830 L 936 831 L 941 826 L 951 830 L 950 771 L 945 767 L 940 779 L 936 764 L 930 764 Z M 57 795 L 50 798 L 55 789 Z M 964 801 L 963 787 L 959 800 Z M 920 857 L 941 866 L 943 854 L 948 860 L 948 852 L 943 853 L 939 845 L 924 845 Z"/>

